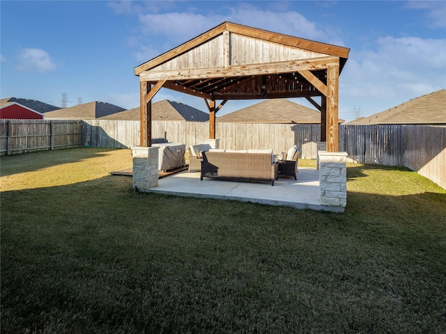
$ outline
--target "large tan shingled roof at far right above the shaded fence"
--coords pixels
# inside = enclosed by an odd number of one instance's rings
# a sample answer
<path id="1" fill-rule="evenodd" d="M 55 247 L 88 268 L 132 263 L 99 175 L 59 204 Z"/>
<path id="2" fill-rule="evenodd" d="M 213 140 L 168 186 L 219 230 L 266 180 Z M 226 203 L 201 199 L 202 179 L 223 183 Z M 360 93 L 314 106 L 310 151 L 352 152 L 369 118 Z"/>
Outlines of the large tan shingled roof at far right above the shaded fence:
<path id="1" fill-rule="evenodd" d="M 416 97 L 369 117 L 357 118 L 348 124 L 446 125 L 446 89 Z"/>

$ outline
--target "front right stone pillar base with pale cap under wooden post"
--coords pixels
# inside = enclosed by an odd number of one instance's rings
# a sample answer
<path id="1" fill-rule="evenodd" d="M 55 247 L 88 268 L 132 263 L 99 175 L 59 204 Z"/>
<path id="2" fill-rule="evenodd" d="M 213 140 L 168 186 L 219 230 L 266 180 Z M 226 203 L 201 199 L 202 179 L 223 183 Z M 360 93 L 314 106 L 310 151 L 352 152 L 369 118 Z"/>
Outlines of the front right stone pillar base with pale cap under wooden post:
<path id="1" fill-rule="evenodd" d="M 346 207 L 347 152 L 319 151 L 318 157 L 321 205 Z"/>

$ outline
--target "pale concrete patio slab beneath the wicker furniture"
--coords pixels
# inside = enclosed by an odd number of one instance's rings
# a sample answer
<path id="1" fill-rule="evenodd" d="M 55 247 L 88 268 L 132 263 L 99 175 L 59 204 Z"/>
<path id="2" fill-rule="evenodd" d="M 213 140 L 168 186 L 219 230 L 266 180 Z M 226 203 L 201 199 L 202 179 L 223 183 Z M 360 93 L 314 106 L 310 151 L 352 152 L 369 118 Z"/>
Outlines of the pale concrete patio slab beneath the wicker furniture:
<path id="1" fill-rule="evenodd" d="M 281 176 L 274 186 L 268 183 L 231 182 L 206 177 L 201 181 L 199 172 L 183 171 L 158 180 L 158 186 L 147 192 L 344 212 L 341 207 L 321 205 L 319 171 L 304 167 L 299 168 L 297 181 L 293 177 Z"/>

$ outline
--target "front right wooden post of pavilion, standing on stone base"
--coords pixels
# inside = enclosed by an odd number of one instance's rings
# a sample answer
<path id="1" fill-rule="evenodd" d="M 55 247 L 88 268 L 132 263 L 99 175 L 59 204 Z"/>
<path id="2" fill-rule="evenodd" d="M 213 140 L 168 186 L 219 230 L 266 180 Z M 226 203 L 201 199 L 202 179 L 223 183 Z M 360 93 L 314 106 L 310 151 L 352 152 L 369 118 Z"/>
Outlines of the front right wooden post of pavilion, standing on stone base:
<path id="1" fill-rule="evenodd" d="M 339 100 L 339 65 L 329 66 L 327 69 L 328 96 L 327 105 L 327 152 L 339 151 L 339 122 L 338 122 L 338 100 Z"/>

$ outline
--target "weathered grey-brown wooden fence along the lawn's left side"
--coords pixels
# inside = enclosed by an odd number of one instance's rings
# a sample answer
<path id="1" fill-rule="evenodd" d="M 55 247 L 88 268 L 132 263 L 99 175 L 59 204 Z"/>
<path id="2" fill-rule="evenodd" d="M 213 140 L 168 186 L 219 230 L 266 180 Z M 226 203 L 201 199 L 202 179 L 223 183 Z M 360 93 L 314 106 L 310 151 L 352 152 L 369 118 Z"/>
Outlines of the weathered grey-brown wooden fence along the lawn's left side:
<path id="1" fill-rule="evenodd" d="M 81 120 L 1 120 L 0 154 L 82 146 Z"/>

